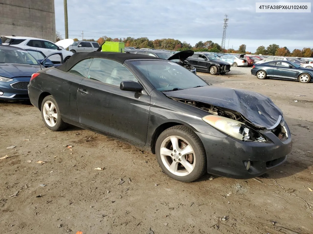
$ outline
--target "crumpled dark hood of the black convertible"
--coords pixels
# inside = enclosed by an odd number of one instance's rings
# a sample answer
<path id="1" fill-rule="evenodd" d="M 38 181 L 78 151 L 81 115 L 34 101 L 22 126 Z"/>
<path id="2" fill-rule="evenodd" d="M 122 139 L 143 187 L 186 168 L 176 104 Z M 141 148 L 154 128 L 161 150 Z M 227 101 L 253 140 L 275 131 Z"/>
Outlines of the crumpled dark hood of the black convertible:
<path id="1" fill-rule="evenodd" d="M 165 92 L 168 97 L 203 102 L 214 106 L 234 110 L 253 125 L 271 129 L 280 122 L 283 112 L 273 101 L 262 94 L 213 85 Z"/>

